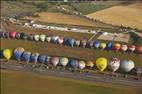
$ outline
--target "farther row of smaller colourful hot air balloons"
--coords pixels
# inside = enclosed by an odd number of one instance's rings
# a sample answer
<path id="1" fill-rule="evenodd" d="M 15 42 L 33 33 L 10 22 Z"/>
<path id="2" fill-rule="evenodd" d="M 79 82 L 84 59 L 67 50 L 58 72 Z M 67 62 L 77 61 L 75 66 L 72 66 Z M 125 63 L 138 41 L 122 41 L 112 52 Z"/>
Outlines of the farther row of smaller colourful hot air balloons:
<path id="1" fill-rule="evenodd" d="M 34 41 L 47 41 L 51 43 L 56 43 L 56 44 L 64 44 L 67 46 L 71 47 L 90 47 L 90 48 L 100 48 L 100 49 L 107 49 L 107 50 L 114 50 L 114 51 L 131 51 L 131 52 L 137 52 L 139 54 L 142 54 L 142 46 L 136 46 L 136 45 L 126 45 L 126 44 L 120 44 L 120 43 L 112 43 L 112 42 L 100 42 L 98 40 L 93 40 L 93 41 L 87 41 L 87 40 L 76 40 L 73 38 L 68 38 L 68 37 L 59 37 L 59 36 L 46 36 L 45 34 L 30 34 L 27 35 L 25 33 L 19 33 L 19 32 L 0 32 L 0 37 L 1 38 L 13 38 L 13 39 L 29 39 L 29 40 L 34 40 Z"/>

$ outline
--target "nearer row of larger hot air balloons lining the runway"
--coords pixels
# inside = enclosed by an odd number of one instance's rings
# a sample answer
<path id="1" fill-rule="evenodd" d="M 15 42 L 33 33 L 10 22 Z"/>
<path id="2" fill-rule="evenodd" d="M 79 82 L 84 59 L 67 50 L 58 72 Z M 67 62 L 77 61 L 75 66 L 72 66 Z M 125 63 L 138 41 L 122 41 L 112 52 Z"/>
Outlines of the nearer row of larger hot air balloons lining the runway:
<path id="1" fill-rule="evenodd" d="M 9 60 L 12 56 L 18 61 L 23 60 L 27 63 L 33 64 L 44 64 L 44 65 L 52 65 L 56 67 L 60 65 L 62 67 L 70 67 L 73 69 L 84 69 L 89 68 L 93 69 L 97 67 L 100 72 L 103 72 L 106 68 L 109 68 L 112 72 L 117 71 L 119 68 L 123 72 L 130 72 L 134 67 L 135 64 L 132 60 L 122 60 L 113 57 L 111 59 L 107 59 L 105 57 L 99 57 L 96 59 L 95 62 L 93 61 L 85 61 L 76 58 L 69 58 L 69 57 L 59 57 L 59 56 L 47 56 L 42 55 L 39 53 L 32 53 L 29 51 L 25 51 L 24 48 L 18 47 L 12 51 L 11 49 L 4 49 L 1 50 L 1 55 Z"/>

